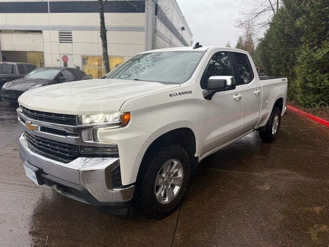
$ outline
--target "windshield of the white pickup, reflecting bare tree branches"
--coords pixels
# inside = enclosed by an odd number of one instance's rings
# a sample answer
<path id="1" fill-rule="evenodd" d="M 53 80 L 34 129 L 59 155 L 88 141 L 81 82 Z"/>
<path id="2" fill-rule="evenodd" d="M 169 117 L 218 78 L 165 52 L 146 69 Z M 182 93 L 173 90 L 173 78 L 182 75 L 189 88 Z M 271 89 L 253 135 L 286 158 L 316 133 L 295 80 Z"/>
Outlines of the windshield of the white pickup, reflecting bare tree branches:
<path id="1" fill-rule="evenodd" d="M 160 51 L 136 55 L 109 73 L 109 79 L 181 84 L 193 74 L 205 51 Z"/>

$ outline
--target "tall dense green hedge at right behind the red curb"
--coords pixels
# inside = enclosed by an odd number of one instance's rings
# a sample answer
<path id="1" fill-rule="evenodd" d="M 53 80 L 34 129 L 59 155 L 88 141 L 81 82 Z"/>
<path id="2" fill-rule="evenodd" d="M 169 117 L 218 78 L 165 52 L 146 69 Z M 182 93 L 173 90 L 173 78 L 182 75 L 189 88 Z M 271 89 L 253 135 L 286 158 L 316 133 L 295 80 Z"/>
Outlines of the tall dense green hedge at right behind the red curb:
<path id="1" fill-rule="evenodd" d="M 254 55 L 270 76 L 288 77 L 304 107 L 329 105 L 329 1 L 285 0 Z"/>

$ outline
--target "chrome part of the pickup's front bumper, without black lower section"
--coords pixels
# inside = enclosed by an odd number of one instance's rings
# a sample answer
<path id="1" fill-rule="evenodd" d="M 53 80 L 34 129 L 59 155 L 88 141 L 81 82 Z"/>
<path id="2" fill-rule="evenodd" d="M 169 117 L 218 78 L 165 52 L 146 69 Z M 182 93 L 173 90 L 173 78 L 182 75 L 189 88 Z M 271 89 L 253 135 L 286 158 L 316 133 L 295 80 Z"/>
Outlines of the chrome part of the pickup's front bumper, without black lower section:
<path id="1" fill-rule="evenodd" d="M 78 157 L 64 164 L 32 152 L 24 133 L 19 137 L 19 145 L 23 163 L 28 162 L 46 174 L 82 186 L 100 203 L 127 202 L 133 198 L 134 185 L 122 189 L 112 187 L 111 171 L 120 164 L 119 158 Z"/>

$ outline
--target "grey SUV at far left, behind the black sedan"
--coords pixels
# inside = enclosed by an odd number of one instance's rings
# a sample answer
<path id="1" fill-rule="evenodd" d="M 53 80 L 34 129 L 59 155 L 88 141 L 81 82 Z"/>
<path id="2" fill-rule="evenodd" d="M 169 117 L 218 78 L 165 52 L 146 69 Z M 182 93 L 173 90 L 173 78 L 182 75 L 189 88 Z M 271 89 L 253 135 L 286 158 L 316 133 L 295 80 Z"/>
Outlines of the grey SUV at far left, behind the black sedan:
<path id="1" fill-rule="evenodd" d="M 8 81 L 12 81 L 30 73 L 35 66 L 30 63 L 0 62 L 0 89 Z"/>

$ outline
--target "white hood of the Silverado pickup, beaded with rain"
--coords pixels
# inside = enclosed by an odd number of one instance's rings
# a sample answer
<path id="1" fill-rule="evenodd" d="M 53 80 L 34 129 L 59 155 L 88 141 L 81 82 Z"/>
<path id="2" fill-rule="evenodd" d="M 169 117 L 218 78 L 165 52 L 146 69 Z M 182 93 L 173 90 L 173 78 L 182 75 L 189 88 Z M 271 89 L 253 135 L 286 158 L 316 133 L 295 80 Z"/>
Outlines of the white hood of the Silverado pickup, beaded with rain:
<path id="1" fill-rule="evenodd" d="M 97 114 L 119 111 L 129 99 L 178 87 L 158 82 L 93 79 L 32 89 L 18 101 L 36 111 L 63 114 Z"/>

